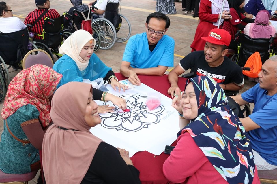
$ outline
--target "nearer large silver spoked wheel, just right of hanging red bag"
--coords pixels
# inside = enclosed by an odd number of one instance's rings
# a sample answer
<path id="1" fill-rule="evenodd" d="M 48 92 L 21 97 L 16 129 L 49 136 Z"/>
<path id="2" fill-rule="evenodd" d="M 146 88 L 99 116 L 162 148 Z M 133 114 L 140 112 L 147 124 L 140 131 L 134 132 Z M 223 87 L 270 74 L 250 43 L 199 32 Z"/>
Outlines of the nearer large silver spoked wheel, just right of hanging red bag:
<path id="1" fill-rule="evenodd" d="M 91 27 L 94 27 L 100 35 L 100 48 L 109 49 L 115 44 L 116 31 L 113 24 L 105 18 L 97 18 L 91 23 Z"/>

